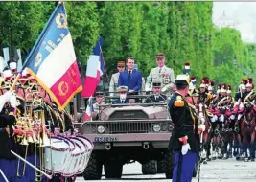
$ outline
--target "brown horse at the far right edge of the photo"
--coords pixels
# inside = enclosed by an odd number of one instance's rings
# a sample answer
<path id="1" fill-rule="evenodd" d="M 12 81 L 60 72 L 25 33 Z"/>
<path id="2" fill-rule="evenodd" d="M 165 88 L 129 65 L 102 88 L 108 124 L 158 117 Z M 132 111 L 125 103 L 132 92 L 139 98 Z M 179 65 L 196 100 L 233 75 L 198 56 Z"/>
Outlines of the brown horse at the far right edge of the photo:
<path id="1" fill-rule="evenodd" d="M 256 106 L 252 102 L 244 103 L 244 116 L 241 121 L 241 132 L 243 136 L 244 161 L 248 161 L 247 149 L 249 149 L 250 160 L 255 160 L 255 117 Z"/>

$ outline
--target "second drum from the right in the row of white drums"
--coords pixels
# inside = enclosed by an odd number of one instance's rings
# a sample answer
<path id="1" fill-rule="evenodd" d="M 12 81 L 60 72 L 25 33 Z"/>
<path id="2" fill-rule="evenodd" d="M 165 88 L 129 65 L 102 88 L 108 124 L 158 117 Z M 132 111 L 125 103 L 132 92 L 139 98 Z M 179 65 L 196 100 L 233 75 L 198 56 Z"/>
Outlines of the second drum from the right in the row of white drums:
<path id="1" fill-rule="evenodd" d="M 77 171 L 75 171 L 76 174 L 80 174 L 83 172 L 82 165 L 84 164 L 84 161 L 85 161 L 86 147 L 80 138 L 72 137 L 71 140 L 81 147 L 81 155 L 80 155 L 80 159 L 79 159 L 79 165 L 78 165 L 78 168 L 76 169 Z"/>

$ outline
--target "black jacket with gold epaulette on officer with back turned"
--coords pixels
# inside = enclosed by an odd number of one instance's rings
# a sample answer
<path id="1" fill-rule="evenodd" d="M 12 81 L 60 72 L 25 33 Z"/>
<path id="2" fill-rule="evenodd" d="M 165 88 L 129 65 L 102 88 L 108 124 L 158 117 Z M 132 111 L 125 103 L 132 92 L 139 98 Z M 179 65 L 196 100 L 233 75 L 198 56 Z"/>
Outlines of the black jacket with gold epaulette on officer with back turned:
<path id="1" fill-rule="evenodd" d="M 170 138 L 169 148 L 181 151 L 180 137 L 187 136 L 191 151 L 199 151 L 198 117 L 183 96 L 175 92 L 169 102 L 169 112 L 175 128 Z"/>

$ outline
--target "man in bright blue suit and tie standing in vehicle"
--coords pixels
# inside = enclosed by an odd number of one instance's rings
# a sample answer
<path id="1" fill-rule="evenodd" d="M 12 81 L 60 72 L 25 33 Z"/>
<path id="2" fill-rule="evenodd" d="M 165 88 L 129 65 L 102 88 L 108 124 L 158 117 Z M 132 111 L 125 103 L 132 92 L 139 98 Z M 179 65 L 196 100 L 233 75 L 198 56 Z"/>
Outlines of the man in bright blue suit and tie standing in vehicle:
<path id="1" fill-rule="evenodd" d="M 120 73 L 118 79 L 119 86 L 127 86 L 129 94 L 138 94 L 142 85 L 142 76 L 139 71 L 133 69 L 134 67 L 134 58 L 127 58 L 127 70 Z"/>

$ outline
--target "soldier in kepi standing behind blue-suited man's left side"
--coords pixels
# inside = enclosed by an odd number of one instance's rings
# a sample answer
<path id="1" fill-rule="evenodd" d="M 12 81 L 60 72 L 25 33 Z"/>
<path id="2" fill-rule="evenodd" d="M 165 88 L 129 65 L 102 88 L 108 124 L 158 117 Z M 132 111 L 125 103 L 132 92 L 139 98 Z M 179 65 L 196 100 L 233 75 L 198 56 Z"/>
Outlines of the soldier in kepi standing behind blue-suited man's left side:
<path id="1" fill-rule="evenodd" d="M 111 92 L 117 92 L 117 83 L 118 83 L 118 78 L 120 75 L 120 72 L 123 72 L 125 70 L 125 65 L 126 61 L 125 60 L 117 60 L 117 70 L 118 72 L 113 74 L 110 80 L 109 84 L 109 92 L 110 96 L 116 96 L 116 93 L 111 93 Z"/>

